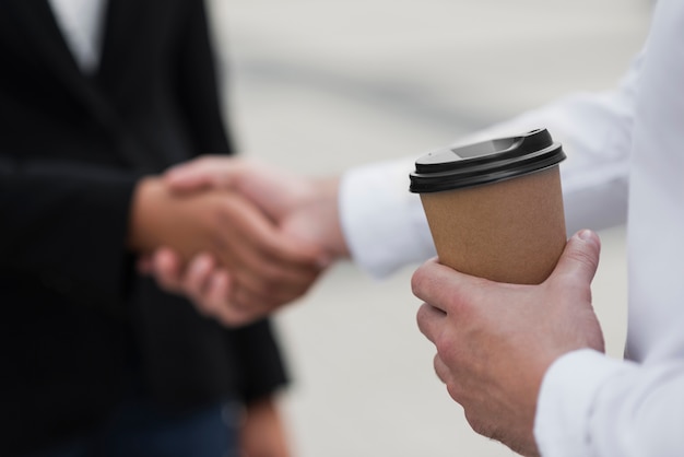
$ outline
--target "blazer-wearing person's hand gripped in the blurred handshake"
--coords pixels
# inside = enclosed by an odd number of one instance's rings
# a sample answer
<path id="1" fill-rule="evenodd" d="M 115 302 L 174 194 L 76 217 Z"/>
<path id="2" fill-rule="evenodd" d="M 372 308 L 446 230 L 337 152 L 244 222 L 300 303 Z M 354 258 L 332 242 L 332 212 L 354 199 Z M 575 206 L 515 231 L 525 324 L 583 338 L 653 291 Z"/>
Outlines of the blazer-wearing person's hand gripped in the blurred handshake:
<path id="1" fill-rule="evenodd" d="M 287 236 L 251 202 L 227 189 L 205 189 L 177 195 L 163 179 L 143 178 L 137 187 L 130 218 L 129 247 L 152 253 L 173 247 L 182 263 L 198 255 L 197 276 L 213 262 L 232 271 L 212 274 L 214 289 L 226 289 L 239 304 L 225 312 L 223 321 L 240 325 L 256 312 L 302 296 L 321 272 L 322 250 L 310 243 Z"/>

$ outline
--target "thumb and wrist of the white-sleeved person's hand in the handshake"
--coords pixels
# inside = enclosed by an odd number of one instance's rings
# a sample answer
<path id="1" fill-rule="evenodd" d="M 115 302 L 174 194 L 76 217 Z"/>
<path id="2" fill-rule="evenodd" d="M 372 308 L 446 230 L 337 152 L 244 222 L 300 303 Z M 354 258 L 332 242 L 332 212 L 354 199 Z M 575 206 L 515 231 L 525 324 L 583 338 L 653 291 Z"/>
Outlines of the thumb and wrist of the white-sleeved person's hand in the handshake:
<path id="1" fill-rule="evenodd" d="M 222 156 L 204 156 L 164 176 L 177 192 L 228 188 L 272 218 L 283 234 L 322 246 L 330 258 L 349 257 L 338 211 L 339 178 L 295 176 L 266 164 Z"/>

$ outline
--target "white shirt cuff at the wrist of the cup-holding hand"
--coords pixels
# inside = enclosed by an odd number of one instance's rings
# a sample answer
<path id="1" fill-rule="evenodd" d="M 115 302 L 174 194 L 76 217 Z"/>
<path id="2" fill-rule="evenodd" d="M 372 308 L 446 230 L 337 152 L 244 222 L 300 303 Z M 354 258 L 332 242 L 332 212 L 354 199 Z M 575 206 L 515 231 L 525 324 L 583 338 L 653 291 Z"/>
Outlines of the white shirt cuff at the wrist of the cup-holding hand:
<path id="1" fill-rule="evenodd" d="M 625 370 L 623 361 L 582 349 L 556 360 L 542 380 L 534 419 L 541 455 L 591 455 L 589 425 L 599 390 Z"/>

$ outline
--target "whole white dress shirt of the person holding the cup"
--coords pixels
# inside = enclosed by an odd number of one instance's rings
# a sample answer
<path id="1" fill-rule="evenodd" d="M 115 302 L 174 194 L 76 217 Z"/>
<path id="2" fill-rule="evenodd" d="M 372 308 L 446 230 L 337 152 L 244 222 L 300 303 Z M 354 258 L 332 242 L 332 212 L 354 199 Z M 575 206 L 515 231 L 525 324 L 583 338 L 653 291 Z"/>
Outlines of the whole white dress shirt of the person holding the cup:
<path id="1" fill-rule="evenodd" d="M 568 154 L 561 166 L 568 232 L 627 222 L 627 359 L 580 350 L 551 366 L 534 430 L 544 456 L 684 456 L 682 44 L 684 2 L 661 0 L 617 90 L 575 95 L 476 136 L 549 128 Z M 408 191 L 414 160 L 343 176 L 343 231 L 353 259 L 374 276 L 435 254 Z"/>

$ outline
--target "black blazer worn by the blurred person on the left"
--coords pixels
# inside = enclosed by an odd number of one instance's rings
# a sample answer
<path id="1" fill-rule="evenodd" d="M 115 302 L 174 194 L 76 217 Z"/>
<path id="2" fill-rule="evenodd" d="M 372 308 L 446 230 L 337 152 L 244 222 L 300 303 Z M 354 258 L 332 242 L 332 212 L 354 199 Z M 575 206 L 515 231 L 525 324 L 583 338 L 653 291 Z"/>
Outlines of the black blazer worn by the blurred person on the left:
<path id="1" fill-rule="evenodd" d="M 284 382 L 268 321 L 223 329 L 123 247 L 141 175 L 232 152 L 204 5 L 108 9 L 86 77 L 47 0 L 0 0 L 2 455 L 80 432 L 131 378 L 178 410 Z"/>

